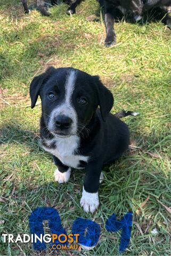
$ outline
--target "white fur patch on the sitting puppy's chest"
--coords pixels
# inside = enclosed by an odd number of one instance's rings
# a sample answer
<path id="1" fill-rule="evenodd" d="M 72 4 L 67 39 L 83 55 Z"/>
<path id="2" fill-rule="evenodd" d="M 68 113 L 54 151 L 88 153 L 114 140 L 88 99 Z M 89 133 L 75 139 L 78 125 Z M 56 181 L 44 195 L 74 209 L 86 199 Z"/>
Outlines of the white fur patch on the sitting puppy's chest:
<path id="1" fill-rule="evenodd" d="M 56 148 L 43 148 L 50 152 L 52 155 L 58 157 L 58 159 L 64 164 L 72 168 L 78 168 L 79 161 L 88 161 L 88 156 L 76 155 L 75 150 L 79 147 L 79 137 L 77 135 L 70 136 L 68 138 L 55 138 L 52 140 L 46 140 L 47 146 L 52 142 L 55 142 Z M 79 167 L 80 168 L 80 167 Z"/>

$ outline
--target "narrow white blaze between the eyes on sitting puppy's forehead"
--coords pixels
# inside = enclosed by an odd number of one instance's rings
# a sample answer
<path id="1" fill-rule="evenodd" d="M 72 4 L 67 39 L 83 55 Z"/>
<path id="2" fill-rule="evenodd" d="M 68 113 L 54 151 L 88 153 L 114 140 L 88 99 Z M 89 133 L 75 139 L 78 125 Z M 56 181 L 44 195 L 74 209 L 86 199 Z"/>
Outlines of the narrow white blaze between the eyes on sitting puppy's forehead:
<path id="1" fill-rule="evenodd" d="M 66 95 L 65 95 L 65 102 L 70 103 L 71 96 L 75 88 L 75 82 L 76 82 L 76 71 L 71 70 L 70 73 L 67 76 L 65 89 L 66 89 Z"/>

